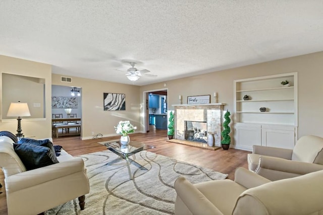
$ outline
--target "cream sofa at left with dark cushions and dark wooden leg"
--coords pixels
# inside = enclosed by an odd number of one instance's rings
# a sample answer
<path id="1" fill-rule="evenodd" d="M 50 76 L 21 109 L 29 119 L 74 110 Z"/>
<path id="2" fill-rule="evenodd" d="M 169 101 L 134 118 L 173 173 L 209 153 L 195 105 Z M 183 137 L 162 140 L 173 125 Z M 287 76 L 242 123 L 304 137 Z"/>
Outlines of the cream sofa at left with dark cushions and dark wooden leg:
<path id="1" fill-rule="evenodd" d="M 64 150 L 57 158 L 58 164 L 26 171 L 14 151 L 13 140 L 0 136 L 0 167 L 5 174 L 9 215 L 42 213 L 78 197 L 84 209 L 89 180 L 83 160 Z"/>

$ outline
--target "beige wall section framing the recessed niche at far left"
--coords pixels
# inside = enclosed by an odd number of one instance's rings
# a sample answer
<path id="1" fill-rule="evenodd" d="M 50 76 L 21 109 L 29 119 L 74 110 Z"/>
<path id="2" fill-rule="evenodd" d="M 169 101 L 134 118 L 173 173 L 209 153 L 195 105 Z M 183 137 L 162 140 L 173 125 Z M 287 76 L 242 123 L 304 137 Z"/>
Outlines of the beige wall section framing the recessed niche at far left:
<path id="1" fill-rule="evenodd" d="M 51 65 L 45 63 L 39 63 L 29 60 L 18 59 L 14 57 L 8 57 L 0 55 L 0 109 L 1 109 L 1 119 L 3 115 L 7 115 L 7 109 L 2 107 L 2 95 L 3 95 L 3 86 L 2 86 L 2 74 L 13 74 L 20 76 L 29 76 L 33 78 L 39 78 L 45 80 L 45 116 L 46 118 L 35 119 L 33 116 L 29 117 L 30 119 L 22 119 L 21 126 L 22 132 L 26 136 L 35 136 L 36 138 L 45 138 L 51 136 L 51 113 L 50 113 L 50 95 L 51 95 Z M 19 83 L 15 83 L 19 85 Z M 15 89 L 15 85 L 12 85 L 12 88 Z M 28 91 L 28 89 L 25 89 Z M 17 99 L 17 97 L 15 98 Z M 20 101 L 24 101 L 24 98 L 21 98 Z M 15 102 L 15 101 L 13 101 Z M 28 104 L 31 106 L 32 104 Z M 41 104 L 40 109 L 43 109 L 43 104 Z M 39 109 L 39 110 L 40 110 Z M 49 111 L 48 111 L 49 110 Z M 36 114 L 38 117 L 38 114 Z M 13 133 L 16 133 L 17 130 L 17 120 L 16 119 L 6 119 L 2 120 L 0 123 L 0 130 L 8 130 Z"/>

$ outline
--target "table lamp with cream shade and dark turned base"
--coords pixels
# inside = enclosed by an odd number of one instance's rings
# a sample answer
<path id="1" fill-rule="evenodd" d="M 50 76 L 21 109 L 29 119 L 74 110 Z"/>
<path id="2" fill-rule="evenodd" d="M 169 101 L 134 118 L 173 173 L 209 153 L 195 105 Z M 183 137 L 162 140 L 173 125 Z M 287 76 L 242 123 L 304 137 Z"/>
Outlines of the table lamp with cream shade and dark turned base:
<path id="1" fill-rule="evenodd" d="M 14 103 L 12 102 L 9 106 L 9 110 L 7 116 L 18 116 L 18 128 L 16 136 L 17 137 L 24 137 L 23 133 L 21 132 L 21 116 L 30 116 L 29 108 L 27 103 Z"/>

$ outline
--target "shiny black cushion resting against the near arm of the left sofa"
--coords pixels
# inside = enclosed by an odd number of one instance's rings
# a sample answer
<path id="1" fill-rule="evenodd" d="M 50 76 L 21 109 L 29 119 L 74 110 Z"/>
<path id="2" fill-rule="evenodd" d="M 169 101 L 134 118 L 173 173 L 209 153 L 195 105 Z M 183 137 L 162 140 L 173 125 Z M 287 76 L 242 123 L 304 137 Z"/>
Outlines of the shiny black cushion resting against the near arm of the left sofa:
<path id="1" fill-rule="evenodd" d="M 14 144 L 14 150 L 27 170 L 59 163 L 55 153 L 48 147 L 24 143 Z"/>

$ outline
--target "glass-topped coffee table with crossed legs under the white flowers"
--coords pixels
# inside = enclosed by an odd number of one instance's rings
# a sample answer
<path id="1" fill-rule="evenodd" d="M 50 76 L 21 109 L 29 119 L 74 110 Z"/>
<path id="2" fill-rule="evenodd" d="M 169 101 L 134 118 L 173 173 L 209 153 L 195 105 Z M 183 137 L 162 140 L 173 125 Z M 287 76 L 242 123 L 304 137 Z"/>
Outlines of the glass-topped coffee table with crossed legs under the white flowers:
<path id="1" fill-rule="evenodd" d="M 143 150 L 155 148 L 154 146 L 142 144 L 141 142 L 136 142 L 136 141 L 130 141 L 129 144 L 126 146 L 122 145 L 120 141 L 113 141 L 113 142 L 106 141 L 106 142 L 102 142 L 102 144 L 104 144 L 104 146 L 106 146 L 108 150 L 110 150 L 111 152 L 115 153 L 120 157 L 113 161 L 110 161 L 106 165 L 112 165 L 119 161 L 126 160 L 130 179 L 132 179 L 130 164 L 135 165 L 141 170 L 147 170 L 147 168 L 141 166 L 140 164 L 130 159 L 129 157 Z"/>

